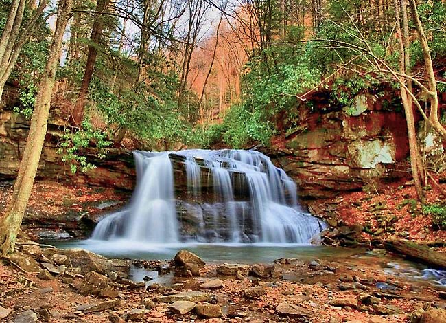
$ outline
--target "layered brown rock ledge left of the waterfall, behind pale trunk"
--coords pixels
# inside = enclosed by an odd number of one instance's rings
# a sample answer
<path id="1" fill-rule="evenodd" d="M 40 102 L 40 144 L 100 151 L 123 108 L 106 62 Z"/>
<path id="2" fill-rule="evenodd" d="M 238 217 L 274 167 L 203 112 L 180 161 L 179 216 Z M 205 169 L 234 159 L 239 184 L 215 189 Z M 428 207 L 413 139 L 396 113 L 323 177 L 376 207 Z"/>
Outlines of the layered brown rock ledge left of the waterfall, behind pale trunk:
<path id="1" fill-rule="evenodd" d="M 21 155 L 25 148 L 30 121 L 12 111 L 1 111 L 0 116 L 0 181 L 14 179 L 17 175 Z M 56 153 L 64 123 L 51 119 L 36 178 L 88 183 L 91 186 L 113 187 L 132 190 L 134 187 L 134 162 L 131 152 L 110 149 L 106 159 L 97 159 L 93 149 L 84 151 L 87 159 L 97 166 L 88 172 L 71 173 Z"/>

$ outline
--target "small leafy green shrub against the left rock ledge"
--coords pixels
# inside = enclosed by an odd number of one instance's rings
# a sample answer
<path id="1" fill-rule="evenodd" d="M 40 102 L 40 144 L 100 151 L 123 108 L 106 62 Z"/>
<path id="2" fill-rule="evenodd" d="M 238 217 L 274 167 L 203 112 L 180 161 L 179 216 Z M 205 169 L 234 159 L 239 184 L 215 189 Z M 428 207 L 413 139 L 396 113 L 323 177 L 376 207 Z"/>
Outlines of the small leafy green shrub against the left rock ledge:
<path id="1" fill-rule="evenodd" d="M 84 120 L 82 122 L 82 128 L 78 131 L 73 132 L 70 129 L 65 129 L 56 153 L 62 154 L 62 161 L 70 165 L 71 172 L 75 173 L 78 169 L 86 172 L 87 170 L 96 168 L 83 155 L 84 149 L 91 146 L 91 142 L 97 148 L 97 157 L 99 159 L 106 157 L 106 147 L 110 146 L 112 142 L 107 140 L 105 133 L 95 129 L 89 120 Z"/>

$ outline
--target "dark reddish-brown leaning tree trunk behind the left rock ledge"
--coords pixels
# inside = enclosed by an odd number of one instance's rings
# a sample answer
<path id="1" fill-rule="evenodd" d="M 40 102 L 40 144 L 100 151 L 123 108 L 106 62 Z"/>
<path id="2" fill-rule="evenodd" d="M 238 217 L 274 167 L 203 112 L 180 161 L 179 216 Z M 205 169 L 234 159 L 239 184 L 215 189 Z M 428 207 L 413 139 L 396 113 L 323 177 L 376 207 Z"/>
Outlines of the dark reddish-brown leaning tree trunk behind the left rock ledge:
<path id="1" fill-rule="evenodd" d="M 110 3 L 110 0 L 97 0 L 96 2 L 97 13 L 95 14 L 95 20 L 93 21 L 93 28 L 91 30 L 91 43 L 93 43 L 93 45 L 89 45 L 89 54 L 86 58 L 84 78 L 82 79 L 82 84 L 80 85 L 78 100 L 76 100 L 73 113 L 71 113 L 71 123 L 74 126 L 80 126 L 80 124 L 82 124 L 82 120 L 84 120 L 86 97 L 89 94 L 89 86 L 91 78 L 93 77 L 93 71 L 95 69 L 97 58 L 96 46 L 99 45 L 102 40 L 102 30 L 104 28 L 101 13 L 106 10 L 108 3 Z"/>

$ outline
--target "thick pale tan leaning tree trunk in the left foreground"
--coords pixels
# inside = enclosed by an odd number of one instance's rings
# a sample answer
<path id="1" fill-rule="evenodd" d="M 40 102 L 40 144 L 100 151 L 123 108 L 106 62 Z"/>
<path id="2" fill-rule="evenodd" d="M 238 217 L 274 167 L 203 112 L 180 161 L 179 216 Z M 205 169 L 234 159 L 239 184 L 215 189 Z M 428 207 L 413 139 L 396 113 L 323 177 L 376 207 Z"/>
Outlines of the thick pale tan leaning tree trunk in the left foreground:
<path id="1" fill-rule="evenodd" d="M 16 236 L 20 230 L 23 214 L 30 199 L 38 161 L 47 133 L 49 106 L 56 83 L 56 69 L 60 60 L 59 52 L 62 46 L 64 30 L 70 18 L 71 6 L 72 0 L 60 0 L 59 2 L 56 30 L 51 43 L 45 74 L 40 80 L 30 133 L 28 133 L 25 152 L 20 163 L 19 176 L 14 184 L 12 199 L 5 213 L 0 217 L 0 254 L 3 255 L 14 252 Z"/>

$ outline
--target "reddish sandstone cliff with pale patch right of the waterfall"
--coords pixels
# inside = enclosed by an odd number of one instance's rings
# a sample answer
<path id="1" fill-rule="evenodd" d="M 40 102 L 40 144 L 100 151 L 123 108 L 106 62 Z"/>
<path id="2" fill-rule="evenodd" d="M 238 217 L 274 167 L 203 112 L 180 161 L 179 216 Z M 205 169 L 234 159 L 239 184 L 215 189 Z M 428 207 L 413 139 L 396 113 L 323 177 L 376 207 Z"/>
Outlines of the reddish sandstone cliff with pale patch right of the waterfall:
<path id="1" fill-rule="evenodd" d="M 370 109 L 357 116 L 314 113 L 305 131 L 263 150 L 298 183 L 301 197 L 333 197 L 407 176 L 401 166 L 409 149 L 403 113 Z"/>

